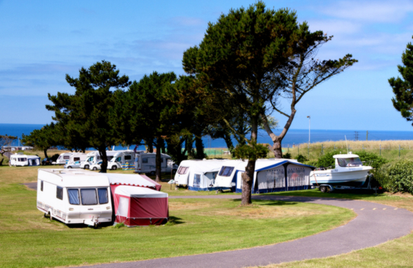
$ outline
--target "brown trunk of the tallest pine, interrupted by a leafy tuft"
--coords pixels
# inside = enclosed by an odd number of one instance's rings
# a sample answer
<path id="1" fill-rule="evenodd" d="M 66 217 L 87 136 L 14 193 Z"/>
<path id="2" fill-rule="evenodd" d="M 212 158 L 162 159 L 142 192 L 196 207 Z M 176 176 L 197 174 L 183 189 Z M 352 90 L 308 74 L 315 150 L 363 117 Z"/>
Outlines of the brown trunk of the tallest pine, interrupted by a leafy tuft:
<path id="1" fill-rule="evenodd" d="M 258 116 L 251 116 L 251 143 L 257 143 L 257 132 L 258 132 Z M 248 164 L 246 165 L 245 172 L 242 174 L 242 196 L 241 205 L 250 205 L 251 192 L 253 190 L 253 178 L 255 172 L 255 157 L 253 159 L 248 159 Z"/>

